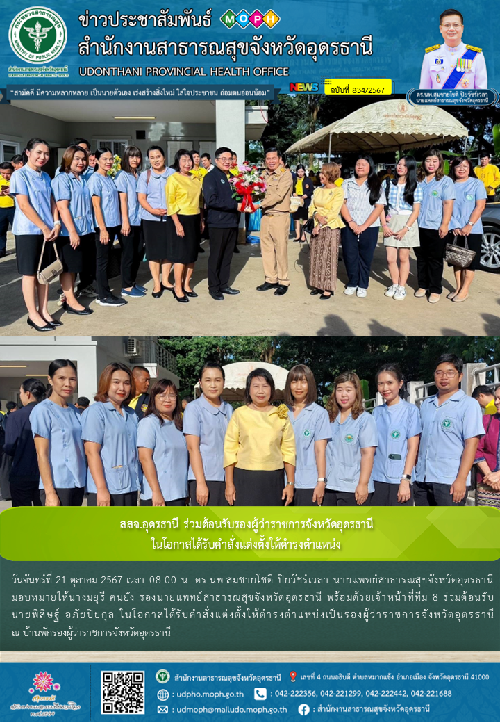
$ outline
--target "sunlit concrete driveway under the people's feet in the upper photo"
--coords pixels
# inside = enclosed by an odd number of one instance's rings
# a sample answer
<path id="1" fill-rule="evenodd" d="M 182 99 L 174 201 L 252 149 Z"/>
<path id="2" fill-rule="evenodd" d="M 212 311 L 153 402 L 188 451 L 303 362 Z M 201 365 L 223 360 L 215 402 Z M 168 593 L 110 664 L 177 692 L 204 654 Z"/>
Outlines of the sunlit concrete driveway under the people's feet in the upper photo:
<path id="1" fill-rule="evenodd" d="M 89 317 L 76 317 L 57 307 L 57 283 L 51 284 L 50 310 L 64 325 L 57 335 L 290 335 L 290 336 L 493 336 L 500 334 L 500 275 L 477 272 L 471 286 L 470 299 L 453 304 L 445 298 L 453 288 L 453 274 L 445 268 L 444 294 L 439 304 L 415 299 L 417 286 L 415 259 L 411 261 L 409 293 L 404 301 L 384 296 L 389 285 L 382 235 L 371 270 L 366 299 L 342 294 L 346 282 L 345 268 L 340 262 L 340 278 L 335 297 L 320 301 L 310 296 L 307 288 L 309 247 L 290 239 L 290 290 L 285 296 L 272 291 L 259 292 L 255 287 L 264 281 L 260 247 L 240 246 L 233 257 L 230 283 L 239 288 L 239 296 L 213 301 L 207 293 L 208 242 L 200 254 L 194 272 L 194 288 L 198 299 L 178 304 L 165 292 L 161 299 L 152 299 L 152 282 L 147 264 L 142 264 L 138 283 L 147 286 L 143 299 L 132 299 L 125 307 L 99 307 Z M 26 310 L 17 273 L 13 238 L 9 233 L 9 253 L 0 260 L 0 333 L 9 336 L 38 335 L 26 323 Z M 119 280 L 111 284 L 119 293 Z M 87 303 L 87 301 L 85 301 Z"/>

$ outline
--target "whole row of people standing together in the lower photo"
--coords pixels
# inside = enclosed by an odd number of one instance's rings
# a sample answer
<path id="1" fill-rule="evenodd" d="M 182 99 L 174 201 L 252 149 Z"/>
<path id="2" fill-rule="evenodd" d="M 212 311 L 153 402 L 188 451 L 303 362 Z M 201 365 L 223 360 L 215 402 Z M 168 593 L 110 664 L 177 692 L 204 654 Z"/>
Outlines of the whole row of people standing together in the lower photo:
<path id="1" fill-rule="evenodd" d="M 382 403 L 370 408 L 356 372 L 337 374 L 320 398 L 311 368 L 294 364 L 277 398 L 270 365 L 257 365 L 243 399 L 228 403 L 216 361 L 199 369 L 196 398 L 116 361 L 92 401 L 73 403 L 77 367 L 55 359 L 0 414 L 2 495 L 8 482 L 13 507 L 499 508 L 500 385 L 469 396 L 463 375 L 460 357 L 441 354 L 436 393 L 417 406 L 400 365 L 384 363 Z"/>

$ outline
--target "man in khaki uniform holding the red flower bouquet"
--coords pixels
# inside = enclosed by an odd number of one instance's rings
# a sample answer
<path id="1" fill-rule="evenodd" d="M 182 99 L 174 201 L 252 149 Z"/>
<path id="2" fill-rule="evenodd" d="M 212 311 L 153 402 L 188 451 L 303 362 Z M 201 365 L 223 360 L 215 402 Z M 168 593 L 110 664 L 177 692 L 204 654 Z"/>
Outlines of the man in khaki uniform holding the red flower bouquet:
<path id="1" fill-rule="evenodd" d="M 288 234 L 290 232 L 290 196 L 293 178 L 290 171 L 280 163 L 282 155 L 277 148 L 265 153 L 267 170 L 264 174 L 266 194 L 260 204 L 260 250 L 266 281 L 257 291 L 275 289 L 275 296 L 288 291 Z"/>

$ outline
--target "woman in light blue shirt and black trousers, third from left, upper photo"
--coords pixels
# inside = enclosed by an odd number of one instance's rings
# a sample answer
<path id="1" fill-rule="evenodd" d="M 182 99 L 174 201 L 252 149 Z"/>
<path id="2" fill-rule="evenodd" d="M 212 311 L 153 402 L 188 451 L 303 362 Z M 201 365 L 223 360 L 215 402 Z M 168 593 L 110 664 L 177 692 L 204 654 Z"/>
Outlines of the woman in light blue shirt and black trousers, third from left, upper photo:
<path id="1" fill-rule="evenodd" d="M 94 173 L 88 181 L 92 205 L 94 207 L 96 269 L 95 280 L 98 284 L 97 303 L 101 307 L 122 307 L 124 299 L 118 299 L 111 293 L 108 281 L 108 265 L 113 253 L 113 243 L 120 232 L 121 215 L 118 191 L 115 182 L 108 176 L 113 167 L 113 151 L 98 148 L 95 151 Z"/>

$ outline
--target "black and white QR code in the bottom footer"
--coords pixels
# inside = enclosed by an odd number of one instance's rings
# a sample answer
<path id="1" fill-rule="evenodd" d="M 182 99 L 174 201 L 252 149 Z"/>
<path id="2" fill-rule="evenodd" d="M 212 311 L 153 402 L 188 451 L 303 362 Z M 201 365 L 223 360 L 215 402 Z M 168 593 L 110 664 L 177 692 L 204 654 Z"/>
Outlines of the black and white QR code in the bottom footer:
<path id="1" fill-rule="evenodd" d="M 144 714 L 144 670 L 103 670 L 101 674 L 103 714 Z"/>

